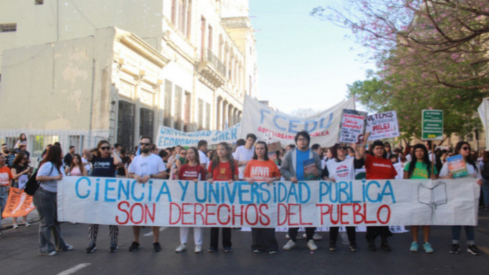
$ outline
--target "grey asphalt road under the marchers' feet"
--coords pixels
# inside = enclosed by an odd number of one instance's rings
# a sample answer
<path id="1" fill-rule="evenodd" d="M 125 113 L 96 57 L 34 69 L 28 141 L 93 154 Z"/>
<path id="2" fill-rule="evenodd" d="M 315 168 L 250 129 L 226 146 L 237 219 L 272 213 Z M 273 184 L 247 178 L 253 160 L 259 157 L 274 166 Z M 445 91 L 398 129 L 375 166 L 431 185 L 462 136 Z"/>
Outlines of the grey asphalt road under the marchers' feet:
<path id="1" fill-rule="evenodd" d="M 324 239 L 316 241 L 319 250 L 314 253 L 306 248 L 302 239 L 292 251 L 281 249 L 279 253 L 270 255 L 251 253 L 251 233 L 240 230 L 233 230 L 232 253 L 224 253 L 222 249 L 208 253 L 209 229 L 204 230 L 202 253 L 194 253 L 192 231 L 188 250 L 175 253 L 179 244 L 178 228 L 163 228 L 160 236 L 163 250 L 159 253 L 152 251 L 150 235 L 141 236 L 140 251 L 129 252 L 132 241 L 130 227 L 119 229 L 119 251 L 109 253 L 108 226 L 102 225 L 98 232 L 98 251 L 87 254 L 87 225 L 63 223 L 64 238 L 75 249 L 46 257 L 38 255 L 38 223 L 34 223 L 30 228 L 3 230 L 0 274 L 489 274 L 489 211 L 481 210 L 479 216 L 476 244 L 484 251 L 481 256 L 466 252 L 463 230 L 460 240 L 462 251 L 457 255 L 449 253 L 451 230 L 442 226 L 432 227 L 430 242 L 435 248 L 432 254 L 410 252 L 409 232 L 390 238 L 391 252 L 367 251 L 363 232 L 357 233 L 360 251 L 349 251 L 339 240 L 340 250 L 332 252 L 328 250 L 328 233 L 321 232 Z M 150 228 L 143 228 L 142 235 L 148 235 L 150 231 Z M 284 232 L 277 232 L 280 246 L 286 242 L 284 236 Z"/>

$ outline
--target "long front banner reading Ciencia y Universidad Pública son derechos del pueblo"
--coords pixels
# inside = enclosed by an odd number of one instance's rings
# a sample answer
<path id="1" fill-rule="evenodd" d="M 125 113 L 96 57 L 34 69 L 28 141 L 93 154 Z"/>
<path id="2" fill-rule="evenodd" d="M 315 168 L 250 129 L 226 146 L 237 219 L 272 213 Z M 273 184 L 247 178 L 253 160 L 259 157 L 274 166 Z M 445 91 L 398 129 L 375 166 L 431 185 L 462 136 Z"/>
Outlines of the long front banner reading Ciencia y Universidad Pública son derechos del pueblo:
<path id="1" fill-rule="evenodd" d="M 476 225 L 475 179 L 166 181 L 64 177 L 58 219 L 73 223 L 198 227 Z"/>

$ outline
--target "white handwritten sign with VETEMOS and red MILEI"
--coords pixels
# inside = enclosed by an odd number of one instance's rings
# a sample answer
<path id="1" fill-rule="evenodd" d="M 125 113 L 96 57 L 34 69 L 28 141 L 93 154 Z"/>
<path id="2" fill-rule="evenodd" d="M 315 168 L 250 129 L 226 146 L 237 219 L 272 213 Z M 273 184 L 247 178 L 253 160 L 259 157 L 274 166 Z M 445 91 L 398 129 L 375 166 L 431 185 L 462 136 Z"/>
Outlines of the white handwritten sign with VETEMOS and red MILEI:
<path id="1" fill-rule="evenodd" d="M 398 137 L 399 126 L 397 124 L 397 113 L 390 111 L 369 114 L 367 116 L 367 129 L 365 132 L 370 133 L 368 140 Z"/>

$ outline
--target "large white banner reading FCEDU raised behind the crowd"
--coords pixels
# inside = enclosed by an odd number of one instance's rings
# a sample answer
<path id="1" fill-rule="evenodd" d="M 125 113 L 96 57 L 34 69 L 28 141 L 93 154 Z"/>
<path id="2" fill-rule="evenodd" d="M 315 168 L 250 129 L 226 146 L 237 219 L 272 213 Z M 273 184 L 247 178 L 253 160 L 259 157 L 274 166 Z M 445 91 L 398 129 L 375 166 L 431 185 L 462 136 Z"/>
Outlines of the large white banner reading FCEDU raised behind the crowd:
<path id="1" fill-rule="evenodd" d="M 254 133 L 258 139 L 263 140 L 265 134 L 272 133 L 272 140 L 293 144 L 295 134 L 305 130 L 311 135 L 309 144 L 318 143 L 330 147 L 337 142 L 340 133 L 342 110 L 353 109 L 353 103 L 353 98 L 350 98 L 313 117 L 301 118 L 275 112 L 246 96 L 238 137 L 245 138 L 248 133 Z"/>

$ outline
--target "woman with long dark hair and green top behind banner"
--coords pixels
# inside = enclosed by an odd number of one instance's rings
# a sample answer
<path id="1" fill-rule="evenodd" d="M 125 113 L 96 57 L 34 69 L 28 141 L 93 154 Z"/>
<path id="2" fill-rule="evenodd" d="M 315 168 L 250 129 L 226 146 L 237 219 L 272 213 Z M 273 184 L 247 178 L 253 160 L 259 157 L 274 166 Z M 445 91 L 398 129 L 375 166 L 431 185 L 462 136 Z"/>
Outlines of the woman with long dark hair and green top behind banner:
<path id="1" fill-rule="evenodd" d="M 404 179 L 436 179 L 437 168 L 432 170 L 432 163 L 428 156 L 428 149 L 423 144 L 416 144 L 414 149 L 414 159 L 404 167 Z M 420 225 L 411 225 L 413 242 L 411 243 L 412 252 L 418 252 L 418 231 Z M 423 230 L 423 249 L 426 253 L 433 253 L 433 248 L 429 242 L 430 225 L 421 225 Z"/>

